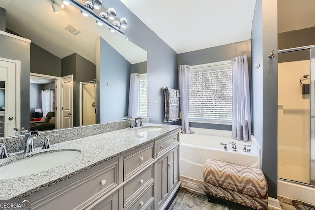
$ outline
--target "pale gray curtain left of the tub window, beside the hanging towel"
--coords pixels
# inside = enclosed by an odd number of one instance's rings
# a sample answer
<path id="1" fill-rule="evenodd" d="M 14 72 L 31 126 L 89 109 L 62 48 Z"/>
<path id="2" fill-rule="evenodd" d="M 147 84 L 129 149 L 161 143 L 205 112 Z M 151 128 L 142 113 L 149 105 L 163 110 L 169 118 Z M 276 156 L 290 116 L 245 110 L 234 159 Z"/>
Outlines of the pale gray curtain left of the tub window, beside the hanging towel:
<path id="1" fill-rule="evenodd" d="M 180 101 L 183 134 L 191 133 L 188 122 L 189 70 L 190 66 L 188 65 L 179 66 L 179 95 L 181 96 Z"/>

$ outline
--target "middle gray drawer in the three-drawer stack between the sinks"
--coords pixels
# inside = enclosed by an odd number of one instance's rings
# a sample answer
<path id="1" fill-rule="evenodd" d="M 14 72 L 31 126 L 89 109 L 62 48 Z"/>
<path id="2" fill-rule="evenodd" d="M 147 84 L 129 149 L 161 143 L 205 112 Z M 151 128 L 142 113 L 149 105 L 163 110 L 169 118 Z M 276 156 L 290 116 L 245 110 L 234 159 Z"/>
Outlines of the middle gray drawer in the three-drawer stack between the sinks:
<path id="1" fill-rule="evenodd" d="M 150 181 L 153 181 L 153 166 L 124 185 L 124 206 L 130 201 L 133 201 L 134 197 L 147 186 Z"/>

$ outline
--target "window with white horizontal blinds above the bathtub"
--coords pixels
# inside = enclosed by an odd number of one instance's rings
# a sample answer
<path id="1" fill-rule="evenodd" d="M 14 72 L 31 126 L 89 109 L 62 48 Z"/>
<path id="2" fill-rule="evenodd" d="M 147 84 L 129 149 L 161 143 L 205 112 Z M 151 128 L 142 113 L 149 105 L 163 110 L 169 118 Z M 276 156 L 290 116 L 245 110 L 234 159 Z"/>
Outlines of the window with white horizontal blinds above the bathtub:
<path id="1" fill-rule="evenodd" d="M 230 124 L 232 121 L 231 61 L 190 66 L 189 121 Z"/>

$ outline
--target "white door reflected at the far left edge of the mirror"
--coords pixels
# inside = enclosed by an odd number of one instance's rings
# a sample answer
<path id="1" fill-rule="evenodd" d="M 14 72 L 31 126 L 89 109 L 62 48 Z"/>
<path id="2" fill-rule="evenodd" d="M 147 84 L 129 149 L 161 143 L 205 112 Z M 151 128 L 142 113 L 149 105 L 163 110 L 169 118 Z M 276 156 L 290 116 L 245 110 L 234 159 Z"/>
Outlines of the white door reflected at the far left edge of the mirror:
<path id="1" fill-rule="evenodd" d="M 13 128 L 20 127 L 20 66 L 18 60 L 0 58 L 0 81 L 5 84 L 4 136 L 13 136 Z"/>

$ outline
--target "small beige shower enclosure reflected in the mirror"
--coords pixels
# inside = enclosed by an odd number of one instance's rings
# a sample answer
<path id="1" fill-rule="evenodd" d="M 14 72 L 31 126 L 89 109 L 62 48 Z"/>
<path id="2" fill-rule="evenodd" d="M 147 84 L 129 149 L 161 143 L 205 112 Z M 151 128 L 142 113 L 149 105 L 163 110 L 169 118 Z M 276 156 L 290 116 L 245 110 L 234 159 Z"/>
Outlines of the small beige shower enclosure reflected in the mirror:
<path id="1" fill-rule="evenodd" d="M 96 124 L 98 81 L 80 82 L 80 125 Z"/>

